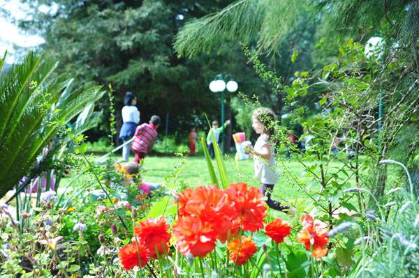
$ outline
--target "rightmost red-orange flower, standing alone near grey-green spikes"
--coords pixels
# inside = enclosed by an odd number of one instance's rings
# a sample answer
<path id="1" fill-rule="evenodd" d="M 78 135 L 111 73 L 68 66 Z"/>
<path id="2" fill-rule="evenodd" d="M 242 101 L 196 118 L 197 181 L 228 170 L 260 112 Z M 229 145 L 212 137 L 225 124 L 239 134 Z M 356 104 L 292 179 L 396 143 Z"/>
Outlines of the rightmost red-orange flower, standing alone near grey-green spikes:
<path id="1" fill-rule="evenodd" d="M 302 229 L 297 235 L 297 240 L 303 243 L 307 250 L 313 249 L 314 258 L 321 258 L 328 254 L 328 247 L 326 245 L 329 242 L 328 232 L 325 230 L 325 223 L 316 219 L 310 215 L 302 216 Z"/>

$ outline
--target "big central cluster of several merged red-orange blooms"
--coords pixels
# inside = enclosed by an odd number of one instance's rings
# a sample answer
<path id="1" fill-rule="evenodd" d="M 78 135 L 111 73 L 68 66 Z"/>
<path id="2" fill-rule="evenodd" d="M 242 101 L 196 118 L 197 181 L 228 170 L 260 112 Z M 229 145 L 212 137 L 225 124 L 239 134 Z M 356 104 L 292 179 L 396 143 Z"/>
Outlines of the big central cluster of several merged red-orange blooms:
<path id="1" fill-rule="evenodd" d="M 246 183 L 232 184 L 227 190 L 188 188 L 178 196 L 179 219 L 173 233 L 177 249 L 184 255 L 204 257 L 212 252 L 217 239 L 226 242 L 240 228 L 244 231 L 263 228 L 267 215 L 263 195 Z"/>

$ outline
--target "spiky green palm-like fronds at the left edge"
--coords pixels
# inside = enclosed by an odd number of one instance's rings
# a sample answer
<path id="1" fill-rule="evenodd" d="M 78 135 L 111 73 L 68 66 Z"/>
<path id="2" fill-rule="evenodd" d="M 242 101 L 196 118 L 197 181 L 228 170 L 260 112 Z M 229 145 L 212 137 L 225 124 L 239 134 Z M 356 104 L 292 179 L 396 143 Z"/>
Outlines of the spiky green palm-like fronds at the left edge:
<path id="1" fill-rule="evenodd" d="M 29 173 L 66 123 L 104 93 L 101 86 L 75 88 L 73 79 L 53 76 L 57 65 L 30 52 L 0 75 L 0 196 Z"/>

